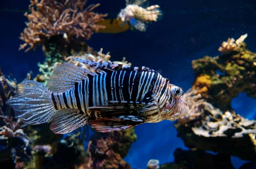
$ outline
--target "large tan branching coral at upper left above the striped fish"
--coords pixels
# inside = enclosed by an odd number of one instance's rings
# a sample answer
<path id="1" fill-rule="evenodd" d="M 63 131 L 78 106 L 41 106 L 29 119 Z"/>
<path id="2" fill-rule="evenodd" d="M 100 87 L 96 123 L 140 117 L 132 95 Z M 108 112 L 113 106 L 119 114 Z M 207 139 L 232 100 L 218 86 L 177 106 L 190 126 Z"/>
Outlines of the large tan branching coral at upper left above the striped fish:
<path id="1" fill-rule="evenodd" d="M 25 43 L 20 45 L 20 50 L 30 45 L 26 49 L 29 51 L 55 35 L 61 35 L 67 42 L 74 37 L 88 40 L 94 31 L 105 28 L 96 25 L 108 15 L 93 12 L 99 3 L 85 9 L 84 0 L 30 0 L 30 3 L 31 14 L 24 14 L 29 21 L 21 33 L 20 39 Z"/>

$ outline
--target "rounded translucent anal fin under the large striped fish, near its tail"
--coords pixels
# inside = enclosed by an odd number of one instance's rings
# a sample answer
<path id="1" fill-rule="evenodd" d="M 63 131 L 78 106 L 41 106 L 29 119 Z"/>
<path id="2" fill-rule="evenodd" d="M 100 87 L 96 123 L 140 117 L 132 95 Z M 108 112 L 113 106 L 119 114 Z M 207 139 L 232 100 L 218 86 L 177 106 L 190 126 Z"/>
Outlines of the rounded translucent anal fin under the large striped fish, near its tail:
<path id="1" fill-rule="evenodd" d="M 55 134 L 66 134 L 83 127 L 88 122 L 87 114 L 78 109 L 58 110 L 52 118 L 50 129 Z"/>

